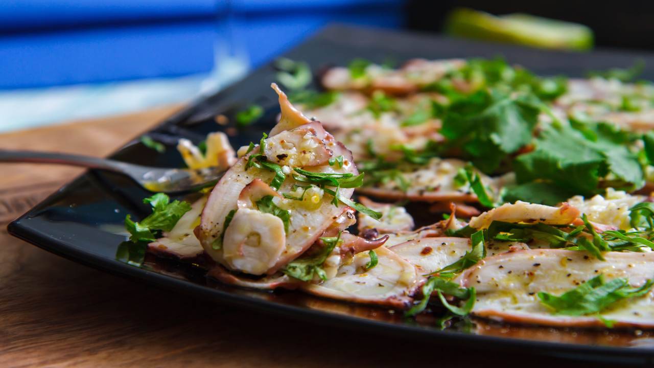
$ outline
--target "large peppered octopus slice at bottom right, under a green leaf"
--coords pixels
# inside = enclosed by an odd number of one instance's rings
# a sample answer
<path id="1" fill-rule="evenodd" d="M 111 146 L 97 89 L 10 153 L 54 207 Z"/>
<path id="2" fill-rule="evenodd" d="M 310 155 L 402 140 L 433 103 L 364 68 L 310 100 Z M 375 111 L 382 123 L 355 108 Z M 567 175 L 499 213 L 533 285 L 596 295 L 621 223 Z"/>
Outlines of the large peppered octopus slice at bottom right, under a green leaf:
<path id="1" fill-rule="evenodd" d="M 654 276 L 654 253 L 607 252 L 600 261 L 584 251 L 531 249 L 487 257 L 458 279 L 475 287 L 476 316 L 504 322 L 553 326 L 604 326 L 596 316 L 552 314 L 538 299 L 540 291 L 560 295 L 579 284 L 604 275 L 607 280 L 626 278 L 633 287 Z M 654 293 L 625 299 L 601 312 L 617 327 L 654 327 Z"/>

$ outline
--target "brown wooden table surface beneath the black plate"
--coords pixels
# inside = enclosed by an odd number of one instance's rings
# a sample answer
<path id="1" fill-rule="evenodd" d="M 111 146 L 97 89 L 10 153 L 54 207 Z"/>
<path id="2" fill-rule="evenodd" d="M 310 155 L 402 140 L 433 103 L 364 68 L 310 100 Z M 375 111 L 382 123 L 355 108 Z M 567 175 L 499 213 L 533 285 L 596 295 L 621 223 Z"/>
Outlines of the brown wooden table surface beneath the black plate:
<path id="1" fill-rule="evenodd" d="M 177 107 L 0 135 L 0 148 L 105 156 Z M 0 224 L 80 170 L 0 164 Z M 558 367 L 218 306 L 84 267 L 0 225 L 0 367 Z M 579 367 L 578 363 L 570 366 Z M 557 368 L 558 368 L 557 367 Z"/>

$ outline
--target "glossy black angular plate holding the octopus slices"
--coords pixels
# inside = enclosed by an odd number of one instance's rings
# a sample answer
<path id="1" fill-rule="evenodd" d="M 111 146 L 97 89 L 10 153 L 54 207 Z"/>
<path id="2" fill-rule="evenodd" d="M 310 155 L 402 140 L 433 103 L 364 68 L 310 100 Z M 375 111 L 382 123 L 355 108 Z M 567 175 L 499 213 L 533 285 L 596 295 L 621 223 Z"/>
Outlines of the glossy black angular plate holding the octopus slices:
<path id="1" fill-rule="evenodd" d="M 525 65 L 542 75 L 583 76 L 589 69 L 607 69 L 632 65 L 638 58 L 654 66 L 654 56 L 610 52 L 587 54 L 547 52 L 511 46 L 469 43 L 433 35 L 391 33 L 388 31 L 332 26 L 324 29 L 285 56 L 305 60 L 315 71 L 328 65 L 343 65 L 355 57 L 375 62 L 408 58 L 467 58 L 504 56 L 509 62 Z M 644 77 L 654 76 L 647 69 Z M 194 103 L 188 109 L 163 122 L 152 136 L 170 143 L 163 155 L 131 141 L 112 158 L 166 167 L 181 166 L 174 143 L 180 137 L 198 143 L 208 132 L 226 130 L 234 147 L 257 141 L 267 132 L 275 117 L 276 96 L 269 88 L 275 81 L 272 67 L 254 71 L 249 77 L 222 92 Z M 260 124 L 237 130 L 219 126 L 216 116 L 232 117 L 250 103 L 269 107 Z M 232 119 L 233 120 L 233 119 Z M 275 312 L 318 323 L 338 323 L 354 329 L 375 329 L 382 333 L 403 335 L 439 343 L 465 344 L 470 348 L 521 350 L 534 354 L 571 358 L 606 359 L 651 363 L 654 344 L 647 331 L 602 331 L 549 329 L 507 326 L 476 321 L 471 329 L 436 327 L 434 318 L 421 316 L 417 321 L 404 320 L 401 313 L 369 306 L 337 303 L 304 295 L 297 291 L 264 293 L 236 289 L 207 280 L 192 265 L 147 257 L 144 267 L 137 268 L 116 260 L 116 252 L 125 237 L 123 221 L 127 213 L 144 217 L 148 206 L 141 200 L 146 191 L 119 175 L 89 172 L 52 194 L 26 215 L 9 225 L 9 231 L 43 249 L 113 274 L 144 280 L 215 299 L 222 303 L 267 312 Z M 654 335 L 654 333 L 652 334 Z"/>

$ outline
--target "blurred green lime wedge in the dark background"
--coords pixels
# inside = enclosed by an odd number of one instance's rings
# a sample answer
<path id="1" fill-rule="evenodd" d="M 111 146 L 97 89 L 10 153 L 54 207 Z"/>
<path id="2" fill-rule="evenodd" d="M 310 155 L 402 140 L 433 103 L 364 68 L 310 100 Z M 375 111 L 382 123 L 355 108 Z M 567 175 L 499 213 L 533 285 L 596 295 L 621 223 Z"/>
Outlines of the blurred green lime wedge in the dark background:
<path id="1" fill-rule="evenodd" d="M 593 48 L 593 31 L 576 23 L 528 14 L 494 16 L 472 9 L 455 9 L 445 21 L 451 35 L 563 50 Z"/>

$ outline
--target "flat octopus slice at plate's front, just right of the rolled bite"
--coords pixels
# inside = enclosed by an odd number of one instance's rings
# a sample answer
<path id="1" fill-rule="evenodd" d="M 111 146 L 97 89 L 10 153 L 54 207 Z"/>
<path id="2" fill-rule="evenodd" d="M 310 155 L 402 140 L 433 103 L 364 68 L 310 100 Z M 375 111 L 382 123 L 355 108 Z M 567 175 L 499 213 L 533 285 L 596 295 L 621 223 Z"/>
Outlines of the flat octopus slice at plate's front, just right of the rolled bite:
<path id="1" fill-rule="evenodd" d="M 370 270 L 366 269 L 368 253 L 358 253 L 351 263 L 339 267 L 334 278 L 322 284 L 304 284 L 301 289 L 330 299 L 408 308 L 422 277 L 411 263 L 389 249 L 377 248 L 375 253 L 378 263 Z"/>

